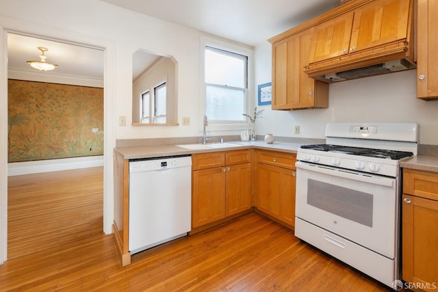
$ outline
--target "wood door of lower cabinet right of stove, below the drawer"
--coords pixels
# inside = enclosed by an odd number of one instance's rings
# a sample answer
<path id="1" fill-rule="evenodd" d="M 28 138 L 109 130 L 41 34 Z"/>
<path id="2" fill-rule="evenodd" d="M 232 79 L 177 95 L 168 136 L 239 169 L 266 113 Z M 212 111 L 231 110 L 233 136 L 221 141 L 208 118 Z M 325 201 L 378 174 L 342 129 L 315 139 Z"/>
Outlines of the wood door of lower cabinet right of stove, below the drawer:
<path id="1" fill-rule="evenodd" d="M 438 279 L 438 201 L 402 198 L 402 278 L 428 287 Z"/>

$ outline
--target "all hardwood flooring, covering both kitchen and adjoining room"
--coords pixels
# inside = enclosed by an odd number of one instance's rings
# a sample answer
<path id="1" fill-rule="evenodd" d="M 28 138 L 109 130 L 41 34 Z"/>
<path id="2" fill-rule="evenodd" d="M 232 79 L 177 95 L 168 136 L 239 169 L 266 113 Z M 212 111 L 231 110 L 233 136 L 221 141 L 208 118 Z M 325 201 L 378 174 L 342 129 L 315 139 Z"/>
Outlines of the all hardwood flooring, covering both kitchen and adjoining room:
<path id="1" fill-rule="evenodd" d="M 113 235 L 102 234 L 102 195 L 97 191 L 102 176 L 94 177 L 99 183 L 88 181 L 92 176 L 81 170 L 57 173 L 57 181 L 34 175 L 10 180 L 12 189 L 21 181 L 30 190 L 24 191 L 29 198 L 10 200 L 16 256 L 0 265 L 0 291 L 392 291 L 257 213 L 134 254 L 131 265 L 121 267 Z M 59 189 L 60 194 L 46 196 L 47 202 L 34 198 L 31 194 L 44 192 L 37 181 L 45 191 Z M 72 181 L 82 185 L 79 194 L 73 194 Z M 58 198 L 61 194 L 66 198 Z M 52 210 L 57 207 L 60 211 Z M 31 211 L 23 212 L 26 208 Z M 58 213 L 55 222 L 44 219 L 32 225 L 28 217 L 51 212 Z M 66 219 L 66 213 L 72 217 Z M 51 235 L 44 237 L 55 242 L 28 238 L 32 228 L 40 228 L 41 234 L 51 224 Z M 77 235 L 79 226 L 85 230 Z M 31 248 L 32 241 L 40 248 Z"/>

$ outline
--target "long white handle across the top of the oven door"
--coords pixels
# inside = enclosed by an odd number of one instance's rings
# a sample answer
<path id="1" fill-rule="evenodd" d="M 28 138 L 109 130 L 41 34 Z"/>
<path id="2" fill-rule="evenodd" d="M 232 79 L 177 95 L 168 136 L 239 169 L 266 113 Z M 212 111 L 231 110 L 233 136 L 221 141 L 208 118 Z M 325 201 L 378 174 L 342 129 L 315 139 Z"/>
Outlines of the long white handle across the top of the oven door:
<path id="1" fill-rule="evenodd" d="M 341 178 L 348 178 L 354 181 L 361 181 L 363 183 L 372 183 L 374 185 L 383 185 L 385 187 L 394 187 L 396 181 L 395 178 L 387 178 L 384 176 L 371 176 L 366 174 L 361 174 L 357 172 L 349 172 L 348 170 L 340 170 L 337 168 L 322 167 L 320 165 L 302 163 L 301 161 L 296 162 L 296 176 L 299 179 L 300 174 L 299 169 L 309 170 L 311 172 L 318 172 L 321 174 L 327 174 L 331 176 L 337 176 Z"/>

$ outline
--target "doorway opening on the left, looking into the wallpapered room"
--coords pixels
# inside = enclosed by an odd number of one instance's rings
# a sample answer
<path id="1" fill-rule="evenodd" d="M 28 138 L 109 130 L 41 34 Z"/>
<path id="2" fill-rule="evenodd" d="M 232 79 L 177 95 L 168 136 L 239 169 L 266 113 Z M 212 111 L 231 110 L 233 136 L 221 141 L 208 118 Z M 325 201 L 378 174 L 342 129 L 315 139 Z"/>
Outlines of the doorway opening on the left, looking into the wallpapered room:
<path id="1" fill-rule="evenodd" d="M 8 81 L 13 79 L 47 85 L 63 84 L 79 88 L 103 89 L 104 87 L 104 51 L 102 49 L 14 32 L 8 32 L 7 42 Z M 58 68 L 50 72 L 40 72 L 26 63 L 29 59 L 38 59 L 38 47 L 49 49 L 44 55 L 47 55 L 49 62 L 56 63 Z M 32 84 L 29 84 L 29 88 L 32 88 Z M 19 94 L 17 92 L 14 94 Z M 34 93 L 38 94 L 38 92 Z M 47 92 L 43 94 L 45 93 Z M 30 97 L 30 94 L 23 94 L 18 100 L 23 102 L 26 112 L 40 113 L 42 122 L 40 124 L 35 122 L 38 120 L 35 116 L 25 118 L 27 121 L 33 120 L 34 122 L 21 124 L 21 127 L 16 129 L 18 133 L 14 136 L 15 142 L 26 141 L 24 144 L 14 144 L 13 150 L 15 151 L 16 148 L 29 150 L 31 148 L 34 152 L 27 151 L 30 156 L 38 157 L 39 155 L 43 159 L 33 161 L 33 157 L 30 157 L 28 161 L 18 162 L 18 164 L 21 163 L 18 165 L 18 171 L 17 168 L 14 168 L 14 172 L 18 172 L 18 175 L 8 177 L 8 258 L 52 248 L 53 244 L 80 240 L 83 237 L 94 235 L 94 233 L 103 233 L 103 92 L 101 98 L 102 114 L 99 117 L 101 124 L 93 126 L 88 124 L 87 127 L 90 129 L 83 129 L 86 122 L 78 120 L 78 127 L 81 128 L 82 135 L 75 137 L 77 140 L 69 137 L 61 142 L 63 137 L 75 135 L 67 133 L 66 129 L 63 129 L 59 123 L 54 126 L 55 119 L 53 117 L 60 115 L 64 117 L 64 120 L 69 116 L 70 118 L 71 116 L 75 117 L 77 108 L 70 108 L 71 105 L 61 106 L 59 101 L 55 101 L 56 98 L 53 94 L 49 95 L 49 98 L 53 98 L 49 102 L 51 107 L 44 107 L 44 104 L 35 102 L 35 99 L 30 102 L 27 99 Z M 44 97 L 47 98 L 47 94 Z M 71 95 L 64 96 L 64 98 L 71 97 Z M 86 98 L 92 97 L 82 96 L 82 98 L 82 101 L 86 101 Z M 20 107 L 19 103 L 15 104 L 18 108 Z M 56 114 L 60 107 L 64 107 L 64 111 Z M 20 110 L 16 112 L 20 112 Z M 21 111 L 20 115 L 22 121 L 23 112 Z M 44 114 L 46 115 L 44 116 Z M 47 122 L 44 122 L 44 119 Z M 11 117 L 8 115 L 8 124 L 10 124 L 10 120 Z M 47 131 L 48 124 L 51 127 L 49 129 L 51 133 L 47 137 L 42 137 L 44 131 Z M 54 135 L 55 131 L 57 133 Z M 89 137 L 92 137 L 91 140 L 84 139 L 84 131 Z M 38 143 L 36 137 L 41 138 Z M 76 150 L 78 146 L 83 146 L 84 142 L 90 146 L 90 141 L 95 141 L 96 137 L 99 138 L 97 140 L 101 142 L 102 147 L 101 165 L 96 166 L 95 158 L 99 155 L 92 155 L 93 159 L 88 167 L 86 159 L 85 162 L 83 159 L 87 155 L 81 155 L 77 151 L 73 151 L 73 155 L 66 158 L 69 159 L 70 163 L 53 163 L 59 161 L 56 159 L 57 155 L 62 157 L 62 153 L 66 154 L 71 149 Z M 52 145 L 44 144 L 44 141 L 48 140 L 52 141 Z M 55 148 L 51 147 L 53 140 L 58 142 Z M 34 143 L 32 144 L 32 142 Z M 12 143 L 8 139 L 8 146 L 10 145 Z M 94 146 L 89 148 L 92 151 Z M 10 157 L 10 152 L 12 149 L 8 147 L 8 157 Z M 16 153 L 18 152 L 16 151 Z M 82 156 L 80 163 L 75 161 L 75 153 L 77 156 Z M 50 155 L 54 155 L 54 157 L 50 157 Z M 44 157 L 49 159 L 44 159 Z M 51 171 L 46 172 L 47 169 Z"/>

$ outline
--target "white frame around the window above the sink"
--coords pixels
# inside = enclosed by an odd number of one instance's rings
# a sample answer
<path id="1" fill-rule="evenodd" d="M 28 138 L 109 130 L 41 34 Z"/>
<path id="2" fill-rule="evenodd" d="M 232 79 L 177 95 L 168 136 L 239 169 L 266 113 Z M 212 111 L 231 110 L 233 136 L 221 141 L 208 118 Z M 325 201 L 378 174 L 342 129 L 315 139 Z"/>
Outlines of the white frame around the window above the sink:
<path id="1" fill-rule="evenodd" d="M 236 53 L 239 55 L 244 55 L 248 57 L 248 68 L 247 68 L 247 90 L 246 90 L 246 104 L 244 107 L 246 108 L 246 113 L 252 113 L 254 111 L 254 94 L 253 94 L 253 76 L 254 76 L 254 68 L 253 68 L 253 56 L 254 50 L 252 47 L 246 46 L 244 44 L 238 44 L 236 42 L 231 42 L 229 40 L 223 40 L 220 38 L 214 38 L 211 36 L 201 35 L 200 42 L 200 105 L 199 105 L 199 129 L 202 131 L 203 125 L 203 117 L 205 114 L 205 105 L 206 105 L 206 83 L 205 83 L 205 47 L 212 47 L 214 49 L 220 49 L 223 51 L 228 51 L 231 53 Z M 242 113 L 244 114 L 244 113 Z M 248 129 L 250 127 L 249 122 L 245 119 L 242 122 L 224 122 L 224 121 L 209 121 L 208 131 L 237 131 L 242 129 Z"/>

